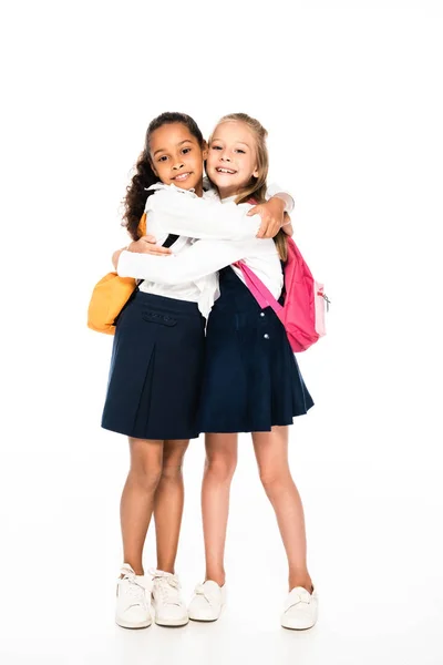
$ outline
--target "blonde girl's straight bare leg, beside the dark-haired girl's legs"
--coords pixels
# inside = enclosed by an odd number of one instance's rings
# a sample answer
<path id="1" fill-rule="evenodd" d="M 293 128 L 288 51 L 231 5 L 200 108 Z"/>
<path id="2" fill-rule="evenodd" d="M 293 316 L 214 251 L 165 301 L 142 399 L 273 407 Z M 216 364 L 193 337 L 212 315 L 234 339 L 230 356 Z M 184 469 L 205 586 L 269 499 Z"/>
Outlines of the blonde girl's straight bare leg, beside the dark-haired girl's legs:
<path id="1" fill-rule="evenodd" d="M 206 580 L 225 584 L 225 542 L 229 491 L 237 466 L 237 434 L 206 434 L 202 515 L 205 538 Z"/>

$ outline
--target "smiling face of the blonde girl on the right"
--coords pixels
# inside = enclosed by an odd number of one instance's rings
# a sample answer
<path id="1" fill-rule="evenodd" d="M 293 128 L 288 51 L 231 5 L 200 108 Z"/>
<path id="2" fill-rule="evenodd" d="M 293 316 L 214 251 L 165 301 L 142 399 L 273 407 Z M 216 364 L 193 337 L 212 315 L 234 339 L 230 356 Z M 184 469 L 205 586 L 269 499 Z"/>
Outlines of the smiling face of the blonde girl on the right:
<path id="1" fill-rule="evenodd" d="M 217 125 L 209 143 L 206 173 L 220 198 L 234 196 L 258 177 L 256 139 L 247 124 L 227 120 Z"/>

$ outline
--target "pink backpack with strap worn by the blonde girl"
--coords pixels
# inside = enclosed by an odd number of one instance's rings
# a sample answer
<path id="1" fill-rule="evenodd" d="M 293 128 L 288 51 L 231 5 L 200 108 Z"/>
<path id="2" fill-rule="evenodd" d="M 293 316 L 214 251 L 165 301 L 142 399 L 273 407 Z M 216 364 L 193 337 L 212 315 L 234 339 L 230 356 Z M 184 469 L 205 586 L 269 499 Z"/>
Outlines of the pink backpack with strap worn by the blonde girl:
<path id="1" fill-rule="evenodd" d="M 240 268 L 246 285 L 261 308 L 272 307 L 285 326 L 293 352 L 306 351 L 326 335 L 324 304 L 329 299 L 323 285 L 316 282 L 292 238 L 288 237 L 288 259 L 285 264 L 285 300 L 281 306 L 257 275 L 243 262 Z"/>

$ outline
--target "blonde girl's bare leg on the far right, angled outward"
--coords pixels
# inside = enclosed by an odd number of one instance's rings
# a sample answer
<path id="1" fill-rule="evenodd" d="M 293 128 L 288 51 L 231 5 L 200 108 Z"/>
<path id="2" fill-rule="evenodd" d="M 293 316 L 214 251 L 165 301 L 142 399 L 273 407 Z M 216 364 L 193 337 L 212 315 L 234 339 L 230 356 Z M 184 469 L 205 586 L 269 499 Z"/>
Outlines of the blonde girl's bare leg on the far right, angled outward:
<path id="1" fill-rule="evenodd" d="M 289 565 L 289 590 L 312 591 L 307 567 L 303 507 L 288 462 L 288 428 L 253 433 L 260 480 L 276 512 Z"/>

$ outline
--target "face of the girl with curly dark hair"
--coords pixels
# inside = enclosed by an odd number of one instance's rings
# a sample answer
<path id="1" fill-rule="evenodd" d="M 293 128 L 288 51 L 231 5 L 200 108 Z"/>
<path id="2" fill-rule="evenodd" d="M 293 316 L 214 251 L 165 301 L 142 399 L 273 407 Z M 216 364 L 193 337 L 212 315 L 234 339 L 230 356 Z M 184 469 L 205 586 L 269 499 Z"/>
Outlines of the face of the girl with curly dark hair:
<path id="1" fill-rule="evenodd" d="M 151 134 L 150 156 L 153 171 L 165 185 L 181 190 L 194 188 L 203 195 L 203 161 L 207 156 L 186 125 L 176 122 L 164 124 Z"/>

